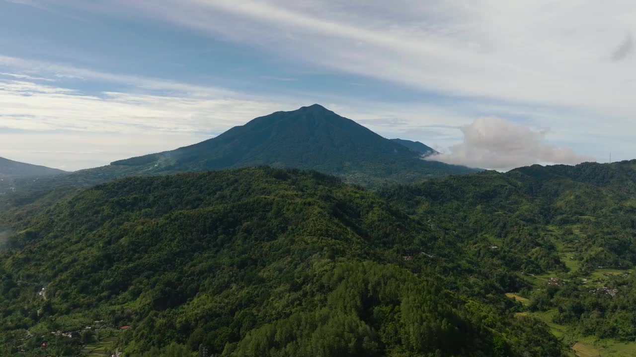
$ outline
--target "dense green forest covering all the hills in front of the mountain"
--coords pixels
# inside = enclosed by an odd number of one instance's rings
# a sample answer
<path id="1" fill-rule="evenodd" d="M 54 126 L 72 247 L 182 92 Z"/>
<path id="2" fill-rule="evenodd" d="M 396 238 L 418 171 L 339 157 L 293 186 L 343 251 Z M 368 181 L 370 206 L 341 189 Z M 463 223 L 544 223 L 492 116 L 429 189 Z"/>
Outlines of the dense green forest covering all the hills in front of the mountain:
<path id="1" fill-rule="evenodd" d="M 259 167 L 5 195 L 0 354 L 560 356 L 627 343 L 635 168 L 369 191 Z"/>

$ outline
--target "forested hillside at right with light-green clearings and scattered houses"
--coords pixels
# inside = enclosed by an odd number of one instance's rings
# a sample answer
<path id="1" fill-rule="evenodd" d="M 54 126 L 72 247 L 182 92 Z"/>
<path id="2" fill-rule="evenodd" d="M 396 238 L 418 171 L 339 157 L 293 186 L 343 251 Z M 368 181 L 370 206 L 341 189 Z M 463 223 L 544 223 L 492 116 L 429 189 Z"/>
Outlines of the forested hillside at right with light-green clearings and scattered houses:
<path id="1" fill-rule="evenodd" d="M 616 351 L 636 347 L 625 345 L 636 339 L 635 164 L 536 165 L 398 185 L 380 196 L 413 219 L 471 237 L 485 261 L 515 257 L 505 269 L 533 288 L 511 293 L 529 299 L 530 314 L 571 344 L 600 339 L 620 347 L 598 353 L 628 356 Z M 520 251 L 530 259 L 518 260 Z"/>

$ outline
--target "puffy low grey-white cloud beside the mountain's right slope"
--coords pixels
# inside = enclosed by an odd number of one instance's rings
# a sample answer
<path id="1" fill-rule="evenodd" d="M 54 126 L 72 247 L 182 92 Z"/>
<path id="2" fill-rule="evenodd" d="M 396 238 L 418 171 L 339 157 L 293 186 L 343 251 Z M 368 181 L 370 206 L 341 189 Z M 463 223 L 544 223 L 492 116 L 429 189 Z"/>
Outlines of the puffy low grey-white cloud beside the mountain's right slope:
<path id="1" fill-rule="evenodd" d="M 462 126 L 464 142 L 429 159 L 455 165 L 509 170 L 534 163 L 578 164 L 595 161 L 566 147 L 545 141 L 548 130 L 531 128 L 501 118 L 478 118 Z"/>

